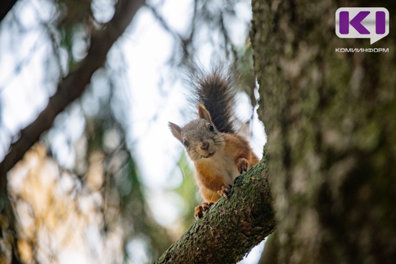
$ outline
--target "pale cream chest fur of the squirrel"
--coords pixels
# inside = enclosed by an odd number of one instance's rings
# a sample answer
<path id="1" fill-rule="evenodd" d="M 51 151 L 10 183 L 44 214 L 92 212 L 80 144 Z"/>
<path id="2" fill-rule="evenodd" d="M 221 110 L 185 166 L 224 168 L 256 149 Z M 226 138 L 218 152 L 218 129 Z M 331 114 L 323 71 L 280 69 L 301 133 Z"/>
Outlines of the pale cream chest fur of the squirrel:
<path id="1" fill-rule="evenodd" d="M 217 175 L 223 176 L 226 181 L 233 184 L 234 179 L 239 176 L 237 165 L 234 162 L 234 157 L 231 155 L 214 155 L 208 161 L 213 172 Z"/>

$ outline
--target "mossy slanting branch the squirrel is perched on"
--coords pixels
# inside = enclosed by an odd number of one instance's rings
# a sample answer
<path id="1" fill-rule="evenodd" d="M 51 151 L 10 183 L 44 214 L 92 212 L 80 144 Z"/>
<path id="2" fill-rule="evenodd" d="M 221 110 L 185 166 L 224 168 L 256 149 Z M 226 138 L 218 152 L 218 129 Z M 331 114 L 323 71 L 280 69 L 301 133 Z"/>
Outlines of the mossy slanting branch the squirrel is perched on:
<path id="1" fill-rule="evenodd" d="M 156 263 L 236 263 L 275 229 L 263 160 L 221 198 Z"/>

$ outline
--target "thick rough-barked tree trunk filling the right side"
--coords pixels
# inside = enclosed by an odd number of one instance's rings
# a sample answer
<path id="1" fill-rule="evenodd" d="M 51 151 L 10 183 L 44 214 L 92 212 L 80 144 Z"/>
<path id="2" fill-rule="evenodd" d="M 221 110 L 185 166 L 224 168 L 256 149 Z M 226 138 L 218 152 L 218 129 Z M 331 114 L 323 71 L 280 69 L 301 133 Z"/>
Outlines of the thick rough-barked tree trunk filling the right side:
<path id="1" fill-rule="evenodd" d="M 396 6 L 375 44 L 335 34 L 339 7 L 253 0 L 251 41 L 267 134 L 278 263 L 396 260 Z M 384 47 L 389 53 L 336 53 Z"/>

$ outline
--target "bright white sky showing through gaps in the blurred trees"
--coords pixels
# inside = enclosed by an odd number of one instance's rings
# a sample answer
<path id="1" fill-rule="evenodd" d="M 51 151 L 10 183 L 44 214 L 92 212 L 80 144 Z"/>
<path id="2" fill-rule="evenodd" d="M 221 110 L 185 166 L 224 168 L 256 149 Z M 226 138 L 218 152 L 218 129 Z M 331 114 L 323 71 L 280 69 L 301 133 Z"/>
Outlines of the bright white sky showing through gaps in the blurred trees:
<path id="1" fill-rule="evenodd" d="M 238 19 L 230 21 L 228 25 L 232 29 L 229 32 L 233 43 L 243 47 L 251 19 L 250 2 L 244 0 L 237 5 Z M 42 8 L 43 6 L 45 8 Z M 51 5 L 46 4 L 45 0 L 20 1 L 15 9 L 22 18 L 23 26 L 30 30 L 17 32 L 17 27 L 13 25 L 10 17 L 0 25 L 2 143 L 8 143 L 8 134 L 16 134 L 44 109 L 59 78 L 49 79 L 49 71 L 57 62 L 46 61 L 52 47 L 47 32 L 40 26 L 43 21 L 51 19 L 55 10 L 51 9 Z M 96 19 L 102 22 L 108 21 L 114 13 L 114 8 L 107 0 L 93 1 L 92 9 Z M 191 0 L 166 0 L 159 11 L 179 34 L 186 34 L 193 10 Z M 84 32 L 80 37 L 84 38 Z M 78 39 L 75 41 L 78 43 Z M 154 218 L 164 226 L 172 226 L 180 213 L 180 201 L 167 192 L 166 188 L 177 186 L 182 181 L 181 173 L 175 168 L 183 146 L 170 133 L 168 122 L 184 125 L 196 118 L 183 110 L 187 107 L 187 101 L 182 76 L 167 64 L 174 45 L 172 36 L 162 28 L 150 10 L 143 7 L 137 12 L 123 36 L 111 48 L 107 61 L 113 69 L 118 69 L 121 59 L 125 62 L 126 68 L 119 70 L 125 71 L 128 78 L 123 80 L 125 85 L 115 92 L 119 93 L 116 96 L 123 105 L 129 107 L 120 109 L 120 116 L 127 118 L 125 124 L 128 148 L 137 158 L 141 179 L 148 188 L 149 205 L 155 209 L 152 210 L 155 212 Z M 198 49 L 198 57 L 203 65 L 207 65 L 212 50 L 209 44 Z M 84 45 L 76 45 L 73 54 L 75 57 L 80 54 L 83 58 L 83 51 Z M 61 64 L 65 64 L 62 52 L 61 50 L 59 60 Z M 43 64 L 47 67 L 43 67 Z M 95 80 L 96 84 L 92 86 L 95 96 L 108 96 L 108 90 L 100 83 L 100 78 Z M 99 104 L 95 98 L 85 94 L 81 100 L 86 102 L 83 103 L 86 107 L 83 109 L 85 113 L 99 111 Z M 247 120 L 251 115 L 247 95 L 238 95 L 237 107 L 241 118 Z M 48 135 L 52 151 L 64 168 L 72 168 L 78 153 L 68 147 L 68 141 L 77 141 L 84 131 L 84 113 L 72 104 L 67 115 L 61 114 L 55 119 L 54 127 L 57 129 L 51 129 Z M 251 145 L 257 156 L 261 157 L 265 137 L 256 114 L 251 129 Z M 0 149 L 0 159 L 5 151 Z M 152 166 L 153 161 L 156 166 Z M 139 249 L 140 245 L 139 241 L 134 240 L 128 245 L 128 250 L 142 251 Z M 262 247 L 261 244 L 255 248 L 241 263 L 256 263 Z M 144 254 L 142 256 L 144 259 Z"/>

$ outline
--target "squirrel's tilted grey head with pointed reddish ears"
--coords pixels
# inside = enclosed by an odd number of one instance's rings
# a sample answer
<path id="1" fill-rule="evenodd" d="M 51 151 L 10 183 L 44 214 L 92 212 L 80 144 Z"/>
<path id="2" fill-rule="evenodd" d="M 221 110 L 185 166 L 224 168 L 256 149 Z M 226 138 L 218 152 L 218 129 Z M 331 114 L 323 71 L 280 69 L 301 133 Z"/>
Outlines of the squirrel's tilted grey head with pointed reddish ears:
<path id="1" fill-rule="evenodd" d="M 169 122 L 169 128 L 193 161 L 211 158 L 224 147 L 224 134 L 217 131 L 209 112 L 201 103 L 198 103 L 198 119 L 183 128 Z"/>

